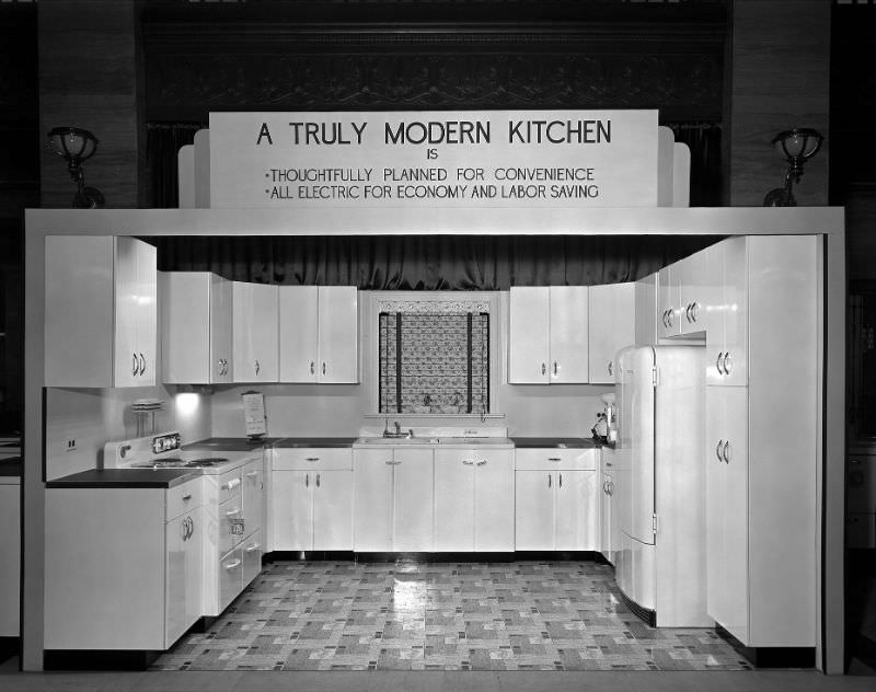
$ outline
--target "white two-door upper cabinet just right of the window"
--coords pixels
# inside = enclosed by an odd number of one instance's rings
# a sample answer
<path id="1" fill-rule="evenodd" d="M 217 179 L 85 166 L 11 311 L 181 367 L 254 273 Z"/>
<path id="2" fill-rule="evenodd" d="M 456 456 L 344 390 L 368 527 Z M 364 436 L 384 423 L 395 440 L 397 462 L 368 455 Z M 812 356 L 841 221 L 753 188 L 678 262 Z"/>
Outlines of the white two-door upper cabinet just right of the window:
<path id="1" fill-rule="evenodd" d="M 588 287 L 512 287 L 508 334 L 511 384 L 586 383 Z"/>

